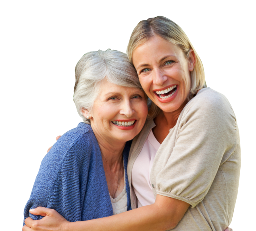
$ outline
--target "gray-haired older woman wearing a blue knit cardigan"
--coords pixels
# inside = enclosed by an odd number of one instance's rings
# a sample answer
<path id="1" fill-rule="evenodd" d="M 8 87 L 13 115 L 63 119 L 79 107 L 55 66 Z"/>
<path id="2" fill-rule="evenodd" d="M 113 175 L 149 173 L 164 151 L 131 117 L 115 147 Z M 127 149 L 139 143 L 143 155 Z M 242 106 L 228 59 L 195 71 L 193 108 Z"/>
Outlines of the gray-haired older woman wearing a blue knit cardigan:
<path id="1" fill-rule="evenodd" d="M 24 220 L 42 218 L 29 214 L 37 206 L 55 209 L 68 221 L 129 211 L 127 141 L 146 121 L 146 98 L 125 53 L 83 55 L 75 67 L 73 100 L 84 123 L 62 135 L 42 160 Z"/>

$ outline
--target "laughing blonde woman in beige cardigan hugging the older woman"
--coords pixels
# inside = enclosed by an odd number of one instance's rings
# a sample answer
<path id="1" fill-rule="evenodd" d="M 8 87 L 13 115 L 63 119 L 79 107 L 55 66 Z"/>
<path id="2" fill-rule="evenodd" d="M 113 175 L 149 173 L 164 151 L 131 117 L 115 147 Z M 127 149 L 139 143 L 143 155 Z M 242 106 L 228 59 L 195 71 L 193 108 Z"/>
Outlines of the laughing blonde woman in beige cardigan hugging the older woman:
<path id="1" fill-rule="evenodd" d="M 152 119 L 133 139 L 129 154 L 133 210 L 69 223 L 40 207 L 33 214 L 46 217 L 26 224 L 47 231 L 224 230 L 233 217 L 241 168 L 231 104 L 206 87 L 200 57 L 168 18 L 139 22 L 127 55 L 152 100 Z M 60 222 L 54 223 L 56 218 Z M 39 225 L 45 229 L 36 229 Z"/>

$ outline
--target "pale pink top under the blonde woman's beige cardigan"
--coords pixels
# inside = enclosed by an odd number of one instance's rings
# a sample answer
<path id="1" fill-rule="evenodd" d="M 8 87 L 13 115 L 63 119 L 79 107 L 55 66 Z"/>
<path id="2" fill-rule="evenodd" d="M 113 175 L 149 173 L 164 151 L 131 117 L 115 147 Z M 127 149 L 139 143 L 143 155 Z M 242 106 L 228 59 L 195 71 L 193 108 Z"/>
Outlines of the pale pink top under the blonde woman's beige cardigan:
<path id="1" fill-rule="evenodd" d="M 150 182 L 150 172 L 153 161 L 160 143 L 154 137 L 152 130 L 150 131 L 146 142 L 142 147 L 135 160 L 131 173 L 131 184 L 135 195 L 137 196 L 137 206 L 142 207 L 149 204 L 154 204 L 155 198 Z"/>

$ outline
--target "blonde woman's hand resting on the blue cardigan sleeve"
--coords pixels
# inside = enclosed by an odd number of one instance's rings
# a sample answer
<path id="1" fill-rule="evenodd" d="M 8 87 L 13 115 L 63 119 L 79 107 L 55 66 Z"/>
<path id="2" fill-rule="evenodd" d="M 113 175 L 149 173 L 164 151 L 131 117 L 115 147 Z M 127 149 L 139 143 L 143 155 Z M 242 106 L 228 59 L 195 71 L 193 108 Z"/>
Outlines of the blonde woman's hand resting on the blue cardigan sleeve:
<path id="1" fill-rule="evenodd" d="M 25 219 L 23 231 L 68 231 L 71 222 L 67 221 L 54 209 L 37 207 L 34 210 L 29 210 L 33 215 L 44 216 L 41 220 L 33 220 L 30 217 Z"/>

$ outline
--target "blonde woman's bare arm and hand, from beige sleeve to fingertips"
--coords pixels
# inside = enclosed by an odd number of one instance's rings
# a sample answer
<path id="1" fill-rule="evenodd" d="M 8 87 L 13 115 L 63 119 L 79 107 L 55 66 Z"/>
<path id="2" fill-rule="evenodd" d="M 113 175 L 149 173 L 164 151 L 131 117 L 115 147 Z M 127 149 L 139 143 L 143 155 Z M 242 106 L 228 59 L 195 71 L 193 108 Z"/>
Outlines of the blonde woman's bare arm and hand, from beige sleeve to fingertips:
<path id="1" fill-rule="evenodd" d="M 23 231 L 165 231 L 179 223 L 188 207 L 189 204 L 181 200 L 157 195 L 154 204 L 110 217 L 77 222 L 67 222 L 55 211 L 52 213 L 52 210 L 40 207 L 31 212 L 46 217 L 40 221 L 27 219 L 25 223 L 28 227 L 23 227 Z"/>

